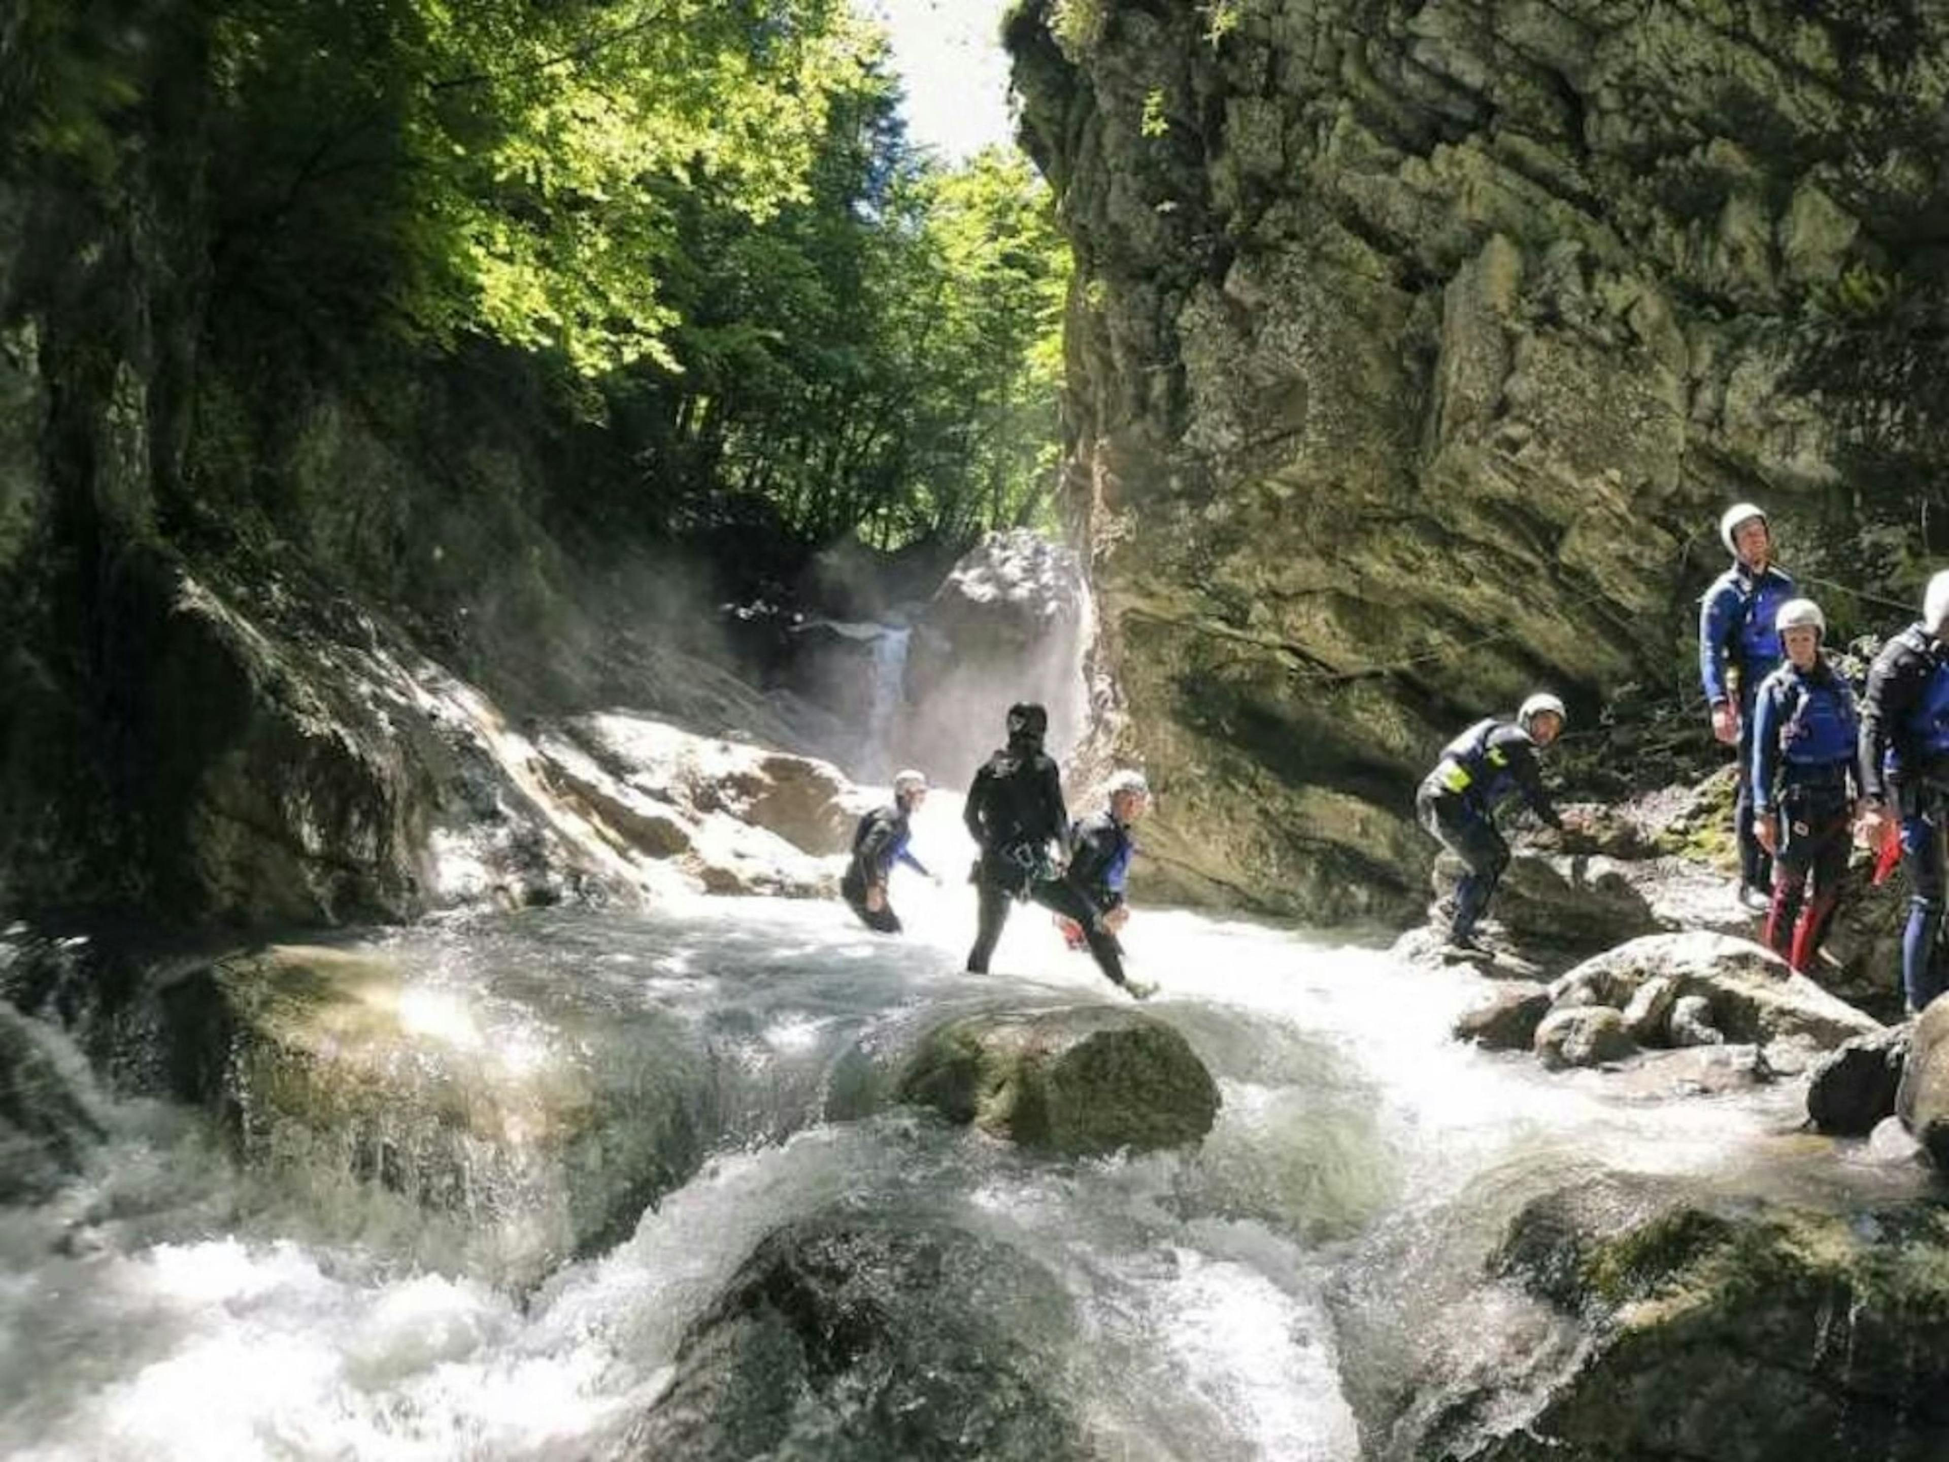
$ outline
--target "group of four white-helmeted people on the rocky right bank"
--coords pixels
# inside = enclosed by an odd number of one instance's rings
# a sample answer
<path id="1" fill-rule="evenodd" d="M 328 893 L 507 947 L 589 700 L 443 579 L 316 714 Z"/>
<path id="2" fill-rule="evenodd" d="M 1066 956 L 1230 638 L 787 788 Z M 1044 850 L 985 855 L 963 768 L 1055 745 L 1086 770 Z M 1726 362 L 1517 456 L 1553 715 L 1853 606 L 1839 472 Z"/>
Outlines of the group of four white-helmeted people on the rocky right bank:
<path id="1" fill-rule="evenodd" d="M 1764 914 L 1766 943 L 1805 971 L 1820 947 L 1850 846 L 1896 848 L 1908 875 L 1902 990 L 1910 1012 L 1949 984 L 1935 957 L 1949 811 L 1949 571 L 1930 579 L 1922 618 L 1889 639 L 1859 700 L 1828 661 L 1826 616 L 1774 561 L 1772 524 L 1740 503 L 1719 538 L 1731 554 L 1700 604 L 1700 684 L 1713 735 L 1737 747 L 1733 803 L 1739 901 Z M 1442 749 L 1421 784 L 1421 825 L 1464 864 L 1448 943 L 1479 953 L 1475 924 L 1509 866 L 1497 811 L 1514 801 L 1551 827 L 1536 752 L 1567 713 L 1530 696 L 1514 721 L 1483 719 Z"/>

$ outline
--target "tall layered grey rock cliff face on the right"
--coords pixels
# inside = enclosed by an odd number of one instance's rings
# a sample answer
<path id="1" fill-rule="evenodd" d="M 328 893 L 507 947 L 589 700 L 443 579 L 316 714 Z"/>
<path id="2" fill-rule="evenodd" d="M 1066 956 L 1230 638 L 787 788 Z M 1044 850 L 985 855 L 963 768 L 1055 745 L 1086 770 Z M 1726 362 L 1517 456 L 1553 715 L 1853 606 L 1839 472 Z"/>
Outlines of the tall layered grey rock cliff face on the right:
<path id="1" fill-rule="evenodd" d="M 1949 460 L 1941 10 L 1029 0 L 1008 39 L 1154 893 L 1419 906 L 1460 725 L 1696 696 L 1733 501 L 1896 600 L 1813 585 L 1842 632 L 1902 620 Z"/>

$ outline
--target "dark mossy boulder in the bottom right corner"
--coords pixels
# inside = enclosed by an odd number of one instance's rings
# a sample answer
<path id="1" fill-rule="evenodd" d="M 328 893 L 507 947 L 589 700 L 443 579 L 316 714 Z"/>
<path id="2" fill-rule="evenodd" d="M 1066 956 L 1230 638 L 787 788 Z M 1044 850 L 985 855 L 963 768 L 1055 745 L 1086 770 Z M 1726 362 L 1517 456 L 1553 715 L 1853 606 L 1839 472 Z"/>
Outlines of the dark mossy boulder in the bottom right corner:
<path id="1" fill-rule="evenodd" d="M 1826 1214 L 1629 1177 L 1551 1193 L 1491 1269 L 1553 1308 L 1567 1343 L 1501 1398 L 1456 1398 L 1413 1456 L 1777 1462 L 1818 1439 L 1836 1462 L 1939 1458 L 1945 1253 L 1930 1203 Z"/>

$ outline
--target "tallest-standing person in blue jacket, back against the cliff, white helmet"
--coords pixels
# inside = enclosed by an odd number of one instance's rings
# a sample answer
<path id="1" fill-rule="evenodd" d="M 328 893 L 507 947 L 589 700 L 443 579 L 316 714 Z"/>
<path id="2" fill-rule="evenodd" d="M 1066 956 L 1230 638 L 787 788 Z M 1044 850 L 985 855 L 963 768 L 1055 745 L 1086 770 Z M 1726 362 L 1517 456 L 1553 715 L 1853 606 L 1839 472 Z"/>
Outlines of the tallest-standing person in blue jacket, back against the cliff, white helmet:
<path id="1" fill-rule="evenodd" d="M 1752 503 L 1729 507 L 1719 540 L 1733 567 L 1700 600 L 1700 682 L 1711 706 L 1711 733 L 1739 749 L 1733 836 L 1739 842 L 1739 903 L 1752 912 L 1772 906 L 1772 866 L 1752 832 L 1752 702 L 1781 661 L 1779 606 L 1795 596 L 1793 579 L 1774 563 L 1774 534 Z"/>

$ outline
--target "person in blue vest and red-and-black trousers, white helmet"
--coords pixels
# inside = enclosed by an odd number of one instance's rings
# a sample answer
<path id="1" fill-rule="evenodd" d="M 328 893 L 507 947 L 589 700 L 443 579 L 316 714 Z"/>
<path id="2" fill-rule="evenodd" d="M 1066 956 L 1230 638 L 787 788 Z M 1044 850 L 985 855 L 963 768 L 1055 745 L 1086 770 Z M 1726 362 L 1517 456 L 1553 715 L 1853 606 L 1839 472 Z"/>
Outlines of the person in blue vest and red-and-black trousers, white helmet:
<path id="1" fill-rule="evenodd" d="M 1766 945 L 1807 973 L 1848 873 L 1859 715 L 1820 606 L 1789 598 L 1774 624 L 1787 659 L 1754 696 L 1752 834 L 1774 860 Z"/>

